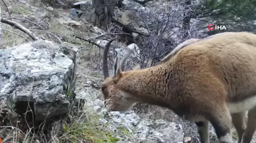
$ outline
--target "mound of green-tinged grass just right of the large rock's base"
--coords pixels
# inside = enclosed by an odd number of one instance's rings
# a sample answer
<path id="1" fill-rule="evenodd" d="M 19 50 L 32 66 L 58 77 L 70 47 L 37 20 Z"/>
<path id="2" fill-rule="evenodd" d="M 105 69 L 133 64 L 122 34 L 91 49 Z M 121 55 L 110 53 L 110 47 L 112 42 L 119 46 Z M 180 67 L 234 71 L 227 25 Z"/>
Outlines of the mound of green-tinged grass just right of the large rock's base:
<path id="1" fill-rule="evenodd" d="M 77 112 L 77 116 L 71 117 L 70 123 L 64 123 L 63 135 L 58 138 L 60 143 L 115 143 L 118 138 L 113 132 L 105 130 L 104 124 L 99 122 L 101 117 L 93 112 L 90 107 L 84 107 L 84 111 Z"/>

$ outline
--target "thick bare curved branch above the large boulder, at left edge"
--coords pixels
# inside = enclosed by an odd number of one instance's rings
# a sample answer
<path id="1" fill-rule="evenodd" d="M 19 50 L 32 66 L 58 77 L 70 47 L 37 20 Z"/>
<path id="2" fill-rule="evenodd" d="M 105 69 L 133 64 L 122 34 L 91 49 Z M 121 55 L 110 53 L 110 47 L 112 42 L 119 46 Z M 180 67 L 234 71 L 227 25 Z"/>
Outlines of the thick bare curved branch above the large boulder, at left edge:
<path id="1" fill-rule="evenodd" d="M 13 28 L 19 29 L 20 31 L 26 33 L 30 38 L 32 38 L 34 41 L 38 40 L 39 38 L 36 37 L 34 34 L 32 34 L 31 31 L 29 31 L 27 28 L 25 28 L 24 26 L 20 25 L 17 22 L 14 21 L 10 21 L 10 20 L 6 20 L 6 19 L 2 19 L 0 20 L 0 22 L 8 24 L 10 26 L 12 26 Z"/>

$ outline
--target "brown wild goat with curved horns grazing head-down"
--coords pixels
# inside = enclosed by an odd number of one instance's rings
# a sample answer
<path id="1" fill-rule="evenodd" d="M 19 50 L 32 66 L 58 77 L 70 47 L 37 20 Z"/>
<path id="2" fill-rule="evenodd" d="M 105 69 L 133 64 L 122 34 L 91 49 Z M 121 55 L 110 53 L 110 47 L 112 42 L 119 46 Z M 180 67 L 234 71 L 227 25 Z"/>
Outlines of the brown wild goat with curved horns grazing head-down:
<path id="1" fill-rule="evenodd" d="M 256 130 L 255 34 L 225 32 L 201 39 L 145 69 L 121 71 L 116 58 L 109 77 L 107 53 L 112 41 L 103 59 L 102 93 L 108 111 L 128 111 L 139 102 L 154 104 L 194 121 L 201 143 L 209 143 L 209 122 L 219 143 L 232 143 L 232 123 L 238 142 L 250 143 Z"/>

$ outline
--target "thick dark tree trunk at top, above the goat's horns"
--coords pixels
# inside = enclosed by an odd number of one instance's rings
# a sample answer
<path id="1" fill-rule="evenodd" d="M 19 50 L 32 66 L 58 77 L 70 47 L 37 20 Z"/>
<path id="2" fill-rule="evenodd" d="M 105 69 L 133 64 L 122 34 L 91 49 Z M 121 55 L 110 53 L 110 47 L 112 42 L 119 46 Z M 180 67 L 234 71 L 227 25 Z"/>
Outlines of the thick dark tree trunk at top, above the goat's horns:
<path id="1" fill-rule="evenodd" d="M 93 8 L 95 8 L 96 14 L 94 25 L 99 25 L 107 31 L 108 25 L 111 24 L 115 5 L 115 0 L 93 0 Z"/>

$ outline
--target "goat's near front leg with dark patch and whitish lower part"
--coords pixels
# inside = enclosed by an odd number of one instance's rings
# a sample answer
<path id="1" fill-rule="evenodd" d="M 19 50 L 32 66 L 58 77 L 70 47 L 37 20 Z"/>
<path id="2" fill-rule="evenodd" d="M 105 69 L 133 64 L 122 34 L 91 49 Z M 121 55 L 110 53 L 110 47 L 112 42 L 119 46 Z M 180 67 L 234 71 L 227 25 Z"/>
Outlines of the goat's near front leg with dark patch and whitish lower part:
<path id="1" fill-rule="evenodd" d="M 215 129 L 218 143 L 232 143 L 232 118 L 227 106 L 215 105 L 205 116 Z"/>

